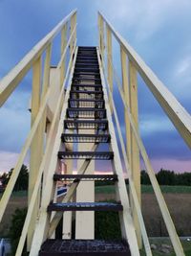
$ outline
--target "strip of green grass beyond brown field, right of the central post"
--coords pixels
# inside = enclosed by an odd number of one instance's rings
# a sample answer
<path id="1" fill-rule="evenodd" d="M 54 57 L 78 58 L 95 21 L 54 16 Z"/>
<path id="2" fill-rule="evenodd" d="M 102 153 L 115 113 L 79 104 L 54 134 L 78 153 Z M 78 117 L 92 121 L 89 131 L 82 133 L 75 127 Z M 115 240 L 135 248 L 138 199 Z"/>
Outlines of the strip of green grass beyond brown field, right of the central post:
<path id="1" fill-rule="evenodd" d="M 127 185 L 129 189 L 129 185 Z M 172 194 L 191 194 L 191 186 L 160 186 L 162 193 L 172 193 Z M 143 194 L 153 194 L 153 187 L 151 185 L 141 185 L 141 192 Z M 113 194 L 115 193 L 115 186 L 97 186 L 96 193 L 98 194 Z"/>

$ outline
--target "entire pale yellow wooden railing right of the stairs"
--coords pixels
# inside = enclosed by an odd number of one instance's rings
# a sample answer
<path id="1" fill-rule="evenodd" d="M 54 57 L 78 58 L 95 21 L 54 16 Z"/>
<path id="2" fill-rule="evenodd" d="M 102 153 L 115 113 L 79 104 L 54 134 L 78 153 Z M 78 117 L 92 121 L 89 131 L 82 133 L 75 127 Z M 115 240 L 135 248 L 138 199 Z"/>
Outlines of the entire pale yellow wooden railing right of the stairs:
<path id="1" fill-rule="evenodd" d="M 146 255 L 150 255 L 150 245 L 148 244 L 148 237 L 142 221 L 140 213 L 140 179 L 138 174 L 138 166 L 135 167 L 133 162 L 136 160 L 139 163 L 139 152 L 143 158 L 146 171 L 149 175 L 154 193 L 159 203 L 163 220 L 165 222 L 169 237 L 173 244 L 176 255 L 184 255 L 180 239 L 177 234 L 174 223 L 171 219 L 165 200 L 159 188 L 159 183 L 155 172 L 152 168 L 148 154 L 144 148 L 143 142 L 138 133 L 138 81 L 137 74 L 145 81 L 148 88 L 151 90 L 159 105 L 163 108 L 169 119 L 174 124 L 175 128 L 180 132 L 180 136 L 185 143 L 191 148 L 191 117 L 186 110 L 180 105 L 177 99 L 172 95 L 165 85 L 159 81 L 153 71 L 144 63 L 133 48 L 126 42 L 126 40 L 117 33 L 114 27 L 107 21 L 107 19 L 98 12 L 98 31 L 99 31 L 99 51 L 102 58 L 105 77 L 108 81 L 108 91 L 110 96 L 111 108 L 114 109 L 114 116 L 117 123 L 117 131 L 119 134 L 119 141 L 122 148 L 126 171 L 129 176 L 131 197 L 134 203 L 133 216 L 138 217 L 138 224 L 140 225 L 141 236 L 145 246 Z M 122 71 L 122 84 L 115 70 L 112 59 L 112 35 L 116 38 L 120 47 L 120 61 Z M 106 41 L 106 46 L 105 46 Z M 106 50 L 106 51 L 105 51 Z M 105 59 L 105 52 L 106 58 Z M 107 69 L 106 69 L 107 68 Z M 126 150 L 123 141 L 122 132 L 118 125 L 116 106 L 113 100 L 113 78 L 117 82 L 117 89 L 119 91 L 125 112 L 125 128 L 126 128 Z M 136 143 L 136 144 L 135 144 Z M 134 154 L 134 155 L 132 155 Z M 136 156 L 135 156 L 136 155 Z M 136 158 L 135 158 L 136 157 Z M 136 172 L 134 169 L 137 169 Z M 134 173 L 135 172 L 135 173 Z M 139 184 L 138 184 L 139 183 Z M 139 234 L 138 234 L 139 235 Z"/>

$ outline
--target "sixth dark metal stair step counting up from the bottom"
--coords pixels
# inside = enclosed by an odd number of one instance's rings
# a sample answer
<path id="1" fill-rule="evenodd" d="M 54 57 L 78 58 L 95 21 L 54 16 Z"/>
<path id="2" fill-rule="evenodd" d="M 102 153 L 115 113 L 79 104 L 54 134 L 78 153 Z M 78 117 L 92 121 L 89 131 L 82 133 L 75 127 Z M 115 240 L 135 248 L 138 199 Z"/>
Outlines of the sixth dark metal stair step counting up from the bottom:
<path id="1" fill-rule="evenodd" d="M 107 120 L 65 120 L 64 128 L 106 130 L 108 128 L 108 121 Z"/>

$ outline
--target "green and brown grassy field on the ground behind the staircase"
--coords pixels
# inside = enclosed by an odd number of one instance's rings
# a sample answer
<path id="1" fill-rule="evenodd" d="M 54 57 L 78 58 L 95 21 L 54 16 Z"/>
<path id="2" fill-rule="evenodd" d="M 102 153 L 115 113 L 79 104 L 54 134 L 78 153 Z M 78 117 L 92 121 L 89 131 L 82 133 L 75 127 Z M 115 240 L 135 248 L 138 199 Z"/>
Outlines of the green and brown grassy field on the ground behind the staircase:
<path id="1" fill-rule="evenodd" d="M 128 186 L 127 186 L 128 188 Z M 187 186 L 160 186 L 165 201 L 168 205 L 172 219 L 175 222 L 178 234 L 180 236 L 191 235 L 191 187 Z M 142 214 L 145 221 L 146 229 L 150 237 L 167 236 L 165 224 L 162 221 L 159 205 L 151 186 L 141 186 L 142 191 Z M 2 195 L 0 195 L 1 198 Z M 115 198 L 114 186 L 96 187 L 96 201 Z M 24 208 L 27 206 L 27 192 L 14 192 L 7 207 L 4 219 L 0 226 L 0 237 L 8 235 L 11 215 L 16 208 Z M 161 239 L 151 241 L 151 244 L 169 244 L 168 241 Z M 191 256 L 191 242 L 183 241 L 185 255 Z M 144 252 L 141 252 L 144 256 Z M 153 251 L 154 256 L 175 256 L 173 251 L 169 254 L 162 254 L 158 250 Z"/>

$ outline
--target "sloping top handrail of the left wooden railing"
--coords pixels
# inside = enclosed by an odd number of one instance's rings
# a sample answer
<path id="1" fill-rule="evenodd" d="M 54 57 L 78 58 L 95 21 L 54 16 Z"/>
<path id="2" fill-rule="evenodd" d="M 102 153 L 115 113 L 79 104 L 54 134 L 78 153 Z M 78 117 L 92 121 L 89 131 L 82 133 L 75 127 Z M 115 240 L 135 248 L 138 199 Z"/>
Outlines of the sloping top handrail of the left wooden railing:
<path id="1" fill-rule="evenodd" d="M 3 105 L 16 88 L 18 83 L 25 77 L 27 72 L 32 68 L 34 61 L 39 58 L 42 52 L 53 41 L 64 25 L 76 13 L 76 10 L 61 20 L 53 30 L 42 38 L 32 50 L 10 71 L 10 73 L 0 81 L 0 106 Z"/>

